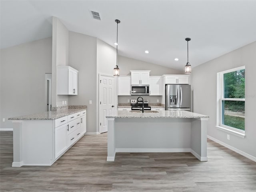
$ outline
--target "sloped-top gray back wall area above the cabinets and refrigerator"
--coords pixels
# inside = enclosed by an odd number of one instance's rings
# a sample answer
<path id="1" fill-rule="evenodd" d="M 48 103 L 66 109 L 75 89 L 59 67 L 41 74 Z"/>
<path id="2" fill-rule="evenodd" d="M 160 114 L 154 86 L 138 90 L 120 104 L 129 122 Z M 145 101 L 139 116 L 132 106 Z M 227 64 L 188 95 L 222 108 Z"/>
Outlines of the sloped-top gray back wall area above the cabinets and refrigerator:
<path id="1" fill-rule="evenodd" d="M 130 75 L 130 70 L 151 70 L 151 76 L 161 76 L 163 74 L 184 74 L 183 71 L 148 63 L 124 56 L 118 56 L 119 75 Z"/>

